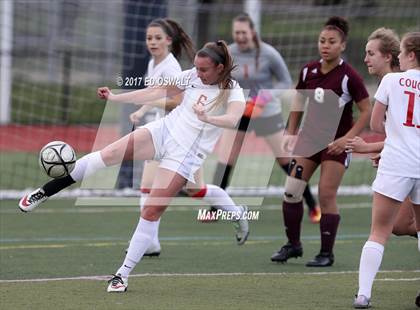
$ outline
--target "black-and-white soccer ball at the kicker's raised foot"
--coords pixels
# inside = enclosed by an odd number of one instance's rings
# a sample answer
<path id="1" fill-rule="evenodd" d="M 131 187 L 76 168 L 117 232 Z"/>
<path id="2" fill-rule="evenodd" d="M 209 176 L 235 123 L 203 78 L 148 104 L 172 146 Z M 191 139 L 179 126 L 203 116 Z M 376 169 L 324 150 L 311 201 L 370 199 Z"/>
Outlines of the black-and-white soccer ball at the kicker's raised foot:
<path id="1" fill-rule="evenodd" d="M 52 178 L 68 176 L 75 165 L 76 154 L 65 142 L 50 142 L 39 152 L 39 166 Z"/>

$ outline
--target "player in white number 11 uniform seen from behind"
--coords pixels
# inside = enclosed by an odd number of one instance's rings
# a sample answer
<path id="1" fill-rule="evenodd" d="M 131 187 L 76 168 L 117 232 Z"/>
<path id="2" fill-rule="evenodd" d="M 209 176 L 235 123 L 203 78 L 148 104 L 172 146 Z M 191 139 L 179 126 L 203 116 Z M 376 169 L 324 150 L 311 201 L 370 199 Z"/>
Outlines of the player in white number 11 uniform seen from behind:
<path id="1" fill-rule="evenodd" d="M 372 226 L 360 256 L 356 309 L 370 307 L 373 281 L 401 203 L 409 197 L 416 216 L 420 213 L 420 32 L 404 35 L 398 58 L 404 72 L 384 76 L 370 123 L 386 139 L 372 185 Z"/>

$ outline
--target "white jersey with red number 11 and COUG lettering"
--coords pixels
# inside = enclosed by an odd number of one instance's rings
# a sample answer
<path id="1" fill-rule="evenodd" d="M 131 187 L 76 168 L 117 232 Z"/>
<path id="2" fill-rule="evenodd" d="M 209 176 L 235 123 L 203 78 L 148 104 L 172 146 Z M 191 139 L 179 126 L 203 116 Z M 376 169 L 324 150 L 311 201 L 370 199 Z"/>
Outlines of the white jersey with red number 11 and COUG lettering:
<path id="1" fill-rule="evenodd" d="M 385 75 L 375 99 L 388 106 L 378 172 L 420 179 L 420 71 Z"/>

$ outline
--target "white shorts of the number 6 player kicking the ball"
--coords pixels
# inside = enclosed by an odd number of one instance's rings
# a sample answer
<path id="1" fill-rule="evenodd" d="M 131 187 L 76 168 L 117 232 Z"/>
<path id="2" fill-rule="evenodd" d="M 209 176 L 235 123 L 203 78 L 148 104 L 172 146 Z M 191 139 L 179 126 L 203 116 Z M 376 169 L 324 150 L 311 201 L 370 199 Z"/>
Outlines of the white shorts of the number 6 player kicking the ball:
<path id="1" fill-rule="evenodd" d="M 201 153 L 197 156 L 197 145 L 193 145 L 190 150 L 185 150 L 171 136 L 163 118 L 148 123 L 142 128 L 149 130 L 152 135 L 155 147 L 153 159 L 160 162 L 159 167 L 176 172 L 195 183 L 194 174 L 205 160 L 205 156 Z"/>

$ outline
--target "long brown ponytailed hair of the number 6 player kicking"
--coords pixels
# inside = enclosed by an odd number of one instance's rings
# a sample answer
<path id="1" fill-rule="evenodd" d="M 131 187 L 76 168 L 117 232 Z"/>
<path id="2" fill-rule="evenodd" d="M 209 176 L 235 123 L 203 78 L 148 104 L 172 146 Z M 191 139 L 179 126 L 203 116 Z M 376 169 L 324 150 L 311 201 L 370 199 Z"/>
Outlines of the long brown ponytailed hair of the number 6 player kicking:
<path id="1" fill-rule="evenodd" d="M 223 65 L 223 71 L 218 80 L 221 91 L 216 98 L 216 104 L 213 106 L 216 107 L 227 100 L 229 90 L 233 88 L 232 70 L 235 69 L 233 58 L 230 55 L 226 42 L 223 40 L 206 43 L 204 47 L 197 52 L 197 56 L 210 58 L 216 66 L 219 64 Z"/>

